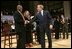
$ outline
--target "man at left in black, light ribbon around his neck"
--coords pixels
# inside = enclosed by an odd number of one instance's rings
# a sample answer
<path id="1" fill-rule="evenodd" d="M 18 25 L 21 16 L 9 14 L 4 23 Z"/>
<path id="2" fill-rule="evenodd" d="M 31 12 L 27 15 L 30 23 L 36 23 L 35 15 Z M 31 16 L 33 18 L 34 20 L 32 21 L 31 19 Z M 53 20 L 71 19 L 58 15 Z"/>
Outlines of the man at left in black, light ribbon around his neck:
<path id="1" fill-rule="evenodd" d="M 17 5 L 17 11 L 14 13 L 15 29 L 18 34 L 17 48 L 25 48 L 26 32 L 24 20 L 20 12 L 22 12 L 22 6 Z"/>

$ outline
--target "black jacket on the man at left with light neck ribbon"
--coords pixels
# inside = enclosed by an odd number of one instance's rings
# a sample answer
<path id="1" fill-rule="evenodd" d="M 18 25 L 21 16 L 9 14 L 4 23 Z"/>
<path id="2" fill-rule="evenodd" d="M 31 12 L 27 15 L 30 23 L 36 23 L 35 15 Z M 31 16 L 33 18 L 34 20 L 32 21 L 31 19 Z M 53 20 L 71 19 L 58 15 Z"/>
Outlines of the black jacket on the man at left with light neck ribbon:
<path id="1" fill-rule="evenodd" d="M 16 32 L 23 32 L 24 31 L 24 21 L 22 16 L 18 11 L 14 13 L 14 21 L 15 21 L 15 29 Z"/>

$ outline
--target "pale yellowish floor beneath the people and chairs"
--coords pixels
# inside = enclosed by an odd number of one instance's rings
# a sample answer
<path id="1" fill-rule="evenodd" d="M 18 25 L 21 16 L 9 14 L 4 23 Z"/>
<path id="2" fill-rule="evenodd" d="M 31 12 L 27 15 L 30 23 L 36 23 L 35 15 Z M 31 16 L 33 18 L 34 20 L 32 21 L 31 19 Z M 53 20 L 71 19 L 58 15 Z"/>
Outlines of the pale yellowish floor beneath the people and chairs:
<path id="1" fill-rule="evenodd" d="M 16 35 L 12 36 L 12 37 L 16 37 Z M 3 40 L 4 37 L 1 37 L 1 40 Z M 35 39 L 33 39 L 33 41 L 35 42 Z M 46 40 L 45 45 L 46 48 L 48 48 L 48 40 Z M 6 41 L 6 43 L 8 43 L 8 41 Z M 12 39 L 12 48 L 16 48 L 16 39 Z M 1 41 L 1 48 L 4 48 L 4 41 Z M 9 46 L 6 45 L 5 48 L 9 48 Z M 39 44 L 34 44 L 32 48 L 41 48 L 41 45 Z M 68 39 L 54 39 L 52 38 L 52 48 L 71 48 L 71 34 L 69 35 Z"/>

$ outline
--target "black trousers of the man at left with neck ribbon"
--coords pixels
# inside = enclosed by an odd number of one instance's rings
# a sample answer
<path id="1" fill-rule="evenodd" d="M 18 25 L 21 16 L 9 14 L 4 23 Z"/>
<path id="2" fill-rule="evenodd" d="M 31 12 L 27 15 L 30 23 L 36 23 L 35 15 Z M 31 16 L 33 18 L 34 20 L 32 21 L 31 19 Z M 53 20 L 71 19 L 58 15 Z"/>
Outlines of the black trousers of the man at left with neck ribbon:
<path id="1" fill-rule="evenodd" d="M 19 32 L 17 40 L 17 48 L 25 48 L 26 36 L 24 32 Z M 22 34 L 21 34 L 22 33 Z"/>

